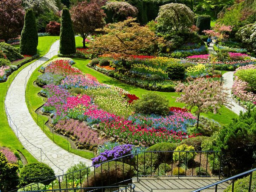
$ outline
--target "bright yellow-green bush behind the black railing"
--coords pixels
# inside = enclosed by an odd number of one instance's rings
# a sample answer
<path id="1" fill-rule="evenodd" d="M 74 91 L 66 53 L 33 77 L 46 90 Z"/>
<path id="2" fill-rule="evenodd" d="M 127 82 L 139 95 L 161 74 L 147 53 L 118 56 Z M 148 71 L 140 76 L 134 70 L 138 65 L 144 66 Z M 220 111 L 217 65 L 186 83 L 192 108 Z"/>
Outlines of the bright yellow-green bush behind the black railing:
<path id="1" fill-rule="evenodd" d="M 195 151 L 195 148 L 192 146 L 183 144 L 183 145 L 177 146 L 175 151 Z M 178 161 L 179 163 L 185 163 L 187 165 L 187 163 L 193 159 L 195 154 L 196 154 L 195 152 L 194 153 L 193 152 L 174 152 L 173 160 Z"/>

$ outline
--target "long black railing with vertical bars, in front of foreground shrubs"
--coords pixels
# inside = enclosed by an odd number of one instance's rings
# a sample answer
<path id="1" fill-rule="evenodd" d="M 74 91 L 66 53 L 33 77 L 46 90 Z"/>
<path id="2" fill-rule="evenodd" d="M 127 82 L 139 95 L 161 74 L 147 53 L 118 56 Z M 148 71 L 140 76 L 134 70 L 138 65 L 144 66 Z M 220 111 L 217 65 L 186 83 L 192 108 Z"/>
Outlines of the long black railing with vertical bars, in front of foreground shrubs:
<path id="1" fill-rule="evenodd" d="M 220 151 L 138 151 L 75 172 L 42 179 L 40 183 L 48 183 L 43 189 L 45 191 L 49 186 L 52 190 L 116 186 L 147 176 L 220 177 L 221 155 Z M 184 160 L 187 161 L 184 163 Z M 38 183 L 28 187 L 35 189 Z M 21 189 L 25 190 L 25 186 Z M 14 191 L 17 189 L 11 192 Z"/>

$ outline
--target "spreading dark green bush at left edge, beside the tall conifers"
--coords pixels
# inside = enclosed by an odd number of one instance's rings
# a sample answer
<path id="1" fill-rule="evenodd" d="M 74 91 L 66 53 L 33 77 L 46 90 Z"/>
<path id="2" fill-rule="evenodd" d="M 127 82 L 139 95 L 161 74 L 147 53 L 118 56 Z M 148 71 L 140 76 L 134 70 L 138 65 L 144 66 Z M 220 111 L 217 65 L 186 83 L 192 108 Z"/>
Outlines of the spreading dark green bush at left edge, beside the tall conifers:
<path id="1" fill-rule="evenodd" d="M 6 58 L 10 61 L 23 58 L 23 56 L 20 55 L 19 49 L 10 44 L 6 44 L 4 42 L 0 43 L 0 50 L 3 51 L 3 54 L 6 55 Z"/>

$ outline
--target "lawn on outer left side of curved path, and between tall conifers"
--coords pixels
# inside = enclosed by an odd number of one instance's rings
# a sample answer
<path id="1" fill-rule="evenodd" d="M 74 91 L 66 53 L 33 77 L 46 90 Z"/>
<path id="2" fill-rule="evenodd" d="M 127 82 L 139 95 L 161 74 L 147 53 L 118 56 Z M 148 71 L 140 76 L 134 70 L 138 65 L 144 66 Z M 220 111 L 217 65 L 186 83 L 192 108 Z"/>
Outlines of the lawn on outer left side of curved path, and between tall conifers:
<path id="1" fill-rule="evenodd" d="M 38 53 L 40 54 L 40 56 L 43 56 L 44 52 L 49 51 L 52 43 L 56 38 L 58 39 L 58 37 L 55 37 L 55 36 L 45 36 L 45 37 L 38 38 Z M 26 67 L 35 61 L 36 60 L 31 61 L 25 64 L 23 67 Z M 7 120 L 7 116 L 6 116 L 5 105 L 4 105 L 4 100 L 5 100 L 9 85 L 12 83 L 13 79 L 17 76 L 17 74 L 23 69 L 23 67 L 20 67 L 11 76 L 9 76 L 8 81 L 0 83 L 0 92 L 1 92 L 0 113 L 3 114 L 0 116 L 0 122 L 1 122 L 0 146 L 6 146 L 6 147 L 13 148 L 15 150 L 20 151 L 26 157 L 26 160 L 28 161 L 28 163 L 32 163 L 32 162 L 36 162 L 37 160 L 23 147 L 23 145 L 20 143 L 20 141 L 16 137 L 15 133 L 12 131 L 12 128 L 10 128 Z"/>

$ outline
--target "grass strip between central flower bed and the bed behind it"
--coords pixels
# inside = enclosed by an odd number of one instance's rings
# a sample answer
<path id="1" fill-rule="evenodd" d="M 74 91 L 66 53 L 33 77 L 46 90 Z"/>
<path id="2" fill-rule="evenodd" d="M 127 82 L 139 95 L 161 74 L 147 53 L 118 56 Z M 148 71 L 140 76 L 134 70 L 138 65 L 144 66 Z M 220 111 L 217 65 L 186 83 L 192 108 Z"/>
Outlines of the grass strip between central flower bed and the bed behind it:
<path id="1" fill-rule="evenodd" d="M 109 76 L 106 76 L 102 73 L 99 73 L 96 70 L 93 70 L 93 69 L 87 67 L 86 65 L 90 61 L 88 59 L 73 58 L 73 60 L 76 62 L 76 64 L 74 64 L 73 67 L 77 67 L 84 73 L 89 73 L 89 74 L 95 76 L 101 83 L 112 84 L 112 85 L 121 87 L 121 88 L 129 91 L 131 94 L 135 94 L 138 97 L 141 97 L 143 94 L 149 92 L 149 90 L 145 90 L 145 89 L 142 89 L 139 87 L 125 84 L 123 82 L 118 81 L 117 79 L 113 79 Z M 156 92 L 159 93 L 160 95 L 166 96 L 166 98 L 169 100 L 170 106 L 181 107 L 181 108 L 185 106 L 183 103 L 175 102 L 176 97 L 179 96 L 178 93 L 158 92 L 158 91 L 156 91 Z M 192 109 L 192 112 L 194 112 L 194 111 L 195 111 L 195 108 Z M 230 111 L 225 106 L 221 107 L 220 113 L 221 114 L 201 113 L 201 115 L 203 115 L 209 119 L 213 119 L 213 120 L 219 122 L 221 125 L 228 125 L 232 121 L 233 118 L 238 117 L 238 115 L 236 115 L 236 113 Z"/>

